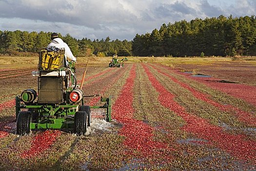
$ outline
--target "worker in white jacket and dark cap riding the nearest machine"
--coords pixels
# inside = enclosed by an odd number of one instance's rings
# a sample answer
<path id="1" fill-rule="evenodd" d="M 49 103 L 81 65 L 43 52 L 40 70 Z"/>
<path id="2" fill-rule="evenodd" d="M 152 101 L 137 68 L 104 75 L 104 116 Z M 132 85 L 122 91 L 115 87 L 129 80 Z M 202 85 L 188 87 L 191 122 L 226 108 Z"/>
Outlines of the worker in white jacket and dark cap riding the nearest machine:
<path id="1" fill-rule="evenodd" d="M 71 61 L 77 61 L 76 57 L 72 54 L 70 48 L 68 47 L 67 43 L 64 43 L 62 39 L 58 37 L 57 33 L 52 33 L 51 35 L 52 42 L 48 44 L 47 48 L 54 49 L 54 48 L 64 48 L 65 49 L 65 63 L 68 66 L 67 59 Z"/>

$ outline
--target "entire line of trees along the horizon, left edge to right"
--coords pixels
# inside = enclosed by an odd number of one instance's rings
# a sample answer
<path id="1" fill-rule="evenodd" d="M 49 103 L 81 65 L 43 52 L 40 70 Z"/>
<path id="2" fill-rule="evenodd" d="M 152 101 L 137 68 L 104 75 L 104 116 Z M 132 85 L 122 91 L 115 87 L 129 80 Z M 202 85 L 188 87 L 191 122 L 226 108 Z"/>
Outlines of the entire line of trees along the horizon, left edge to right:
<path id="1" fill-rule="evenodd" d="M 0 53 L 38 52 L 51 42 L 51 32 L 0 31 Z M 133 41 L 59 37 L 75 56 L 256 56 L 256 17 L 232 16 L 176 21 Z"/>

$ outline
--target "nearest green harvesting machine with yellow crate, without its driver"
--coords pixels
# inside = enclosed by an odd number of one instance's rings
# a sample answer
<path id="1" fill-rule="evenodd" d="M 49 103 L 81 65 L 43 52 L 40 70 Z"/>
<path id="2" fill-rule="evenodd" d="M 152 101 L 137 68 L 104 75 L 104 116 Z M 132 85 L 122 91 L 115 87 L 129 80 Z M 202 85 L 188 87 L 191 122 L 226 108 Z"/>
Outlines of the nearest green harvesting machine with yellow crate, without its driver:
<path id="1" fill-rule="evenodd" d="M 16 96 L 17 134 L 25 135 L 31 129 L 71 129 L 77 135 L 86 133 L 91 124 L 91 108 L 103 108 L 104 119 L 111 121 L 111 98 L 100 97 L 102 106 L 84 105 L 82 85 L 77 85 L 76 62 L 67 62 L 64 49 L 39 52 L 38 92 L 29 88 Z M 89 60 L 88 60 L 89 62 Z M 88 63 L 87 63 L 88 66 Z"/>

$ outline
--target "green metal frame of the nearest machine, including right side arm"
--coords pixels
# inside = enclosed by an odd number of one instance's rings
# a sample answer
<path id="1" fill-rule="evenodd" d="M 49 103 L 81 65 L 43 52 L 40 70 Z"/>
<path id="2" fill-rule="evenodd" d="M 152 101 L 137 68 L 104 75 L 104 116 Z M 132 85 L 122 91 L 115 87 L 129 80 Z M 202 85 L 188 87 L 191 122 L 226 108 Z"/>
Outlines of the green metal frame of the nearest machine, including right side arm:
<path id="1" fill-rule="evenodd" d="M 72 72 L 75 71 L 75 63 L 69 63 Z M 72 84 L 74 77 L 71 75 Z M 38 102 L 24 103 L 20 96 L 16 96 L 16 119 L 21 109 L 30 109 L 32 112 L 32 119 L 30 122 L 30 129 L 60 129 L 60 128 L 74 128 L 74 115 L 79 110 L 79 104 L 69 102 L 69 94 L 72 88 L 66 89 L 66 102 L 61 104 L 39 104 Z M 103 106 L 93 106 L 91 108 L 106 108 L 105 119 L 111 122 L 111 97 L 100 98 L 100 102 L 105 102 Z M 81 105 L 84 105 L 84 98 L 81 100 Z M 34 117 L 34 118 L 33 118 Z"/>

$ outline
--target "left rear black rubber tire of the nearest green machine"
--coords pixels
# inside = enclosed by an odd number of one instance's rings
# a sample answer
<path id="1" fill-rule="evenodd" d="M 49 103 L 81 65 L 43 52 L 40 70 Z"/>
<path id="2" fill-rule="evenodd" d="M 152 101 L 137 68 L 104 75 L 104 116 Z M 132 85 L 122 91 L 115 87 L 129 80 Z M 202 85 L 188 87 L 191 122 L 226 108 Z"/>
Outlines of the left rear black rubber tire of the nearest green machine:
<path id="1" fill-rule="evenodd" d="M 29 134 L 30 132 L 30 121 L 31 112 L 30 111 L 20 111 L 17 118 L 16 132 L 19 135 Z"/>

